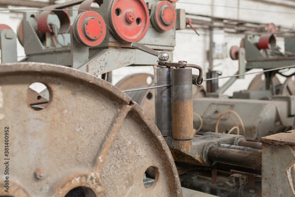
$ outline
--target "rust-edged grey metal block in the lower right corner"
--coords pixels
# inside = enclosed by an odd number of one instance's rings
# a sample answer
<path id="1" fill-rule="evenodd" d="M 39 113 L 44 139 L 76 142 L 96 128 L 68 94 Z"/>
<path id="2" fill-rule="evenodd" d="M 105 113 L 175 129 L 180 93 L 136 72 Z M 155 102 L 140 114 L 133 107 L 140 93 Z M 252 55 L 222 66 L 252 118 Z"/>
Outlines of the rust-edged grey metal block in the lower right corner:
<path id="1" fill-rule="evenodd" d="M 295 133 L 277 133 L 262 141 L 262 196 L 295 196 Z"/>

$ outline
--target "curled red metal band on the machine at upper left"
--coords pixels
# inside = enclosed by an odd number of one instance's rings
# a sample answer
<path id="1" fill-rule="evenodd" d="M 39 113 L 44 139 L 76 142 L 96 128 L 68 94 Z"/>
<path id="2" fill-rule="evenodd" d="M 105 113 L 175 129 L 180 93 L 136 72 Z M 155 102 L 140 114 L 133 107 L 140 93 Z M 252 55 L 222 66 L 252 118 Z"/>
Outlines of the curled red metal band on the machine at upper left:
<path id="1" fill-rule="evenodd" d="M 37 24 L 38 29 L 41 33 L 52 33 L 52 29 L 50 28 L 48 17 L 51 13 L 54 13 L 58 16 L 58 19 L 60 21 L 60 28 L 59 28 L 59 34 L 67 33 L 71 28 L 71 19 L 66 10 L 62 11 L 43 11 L 38 15 Z"/>

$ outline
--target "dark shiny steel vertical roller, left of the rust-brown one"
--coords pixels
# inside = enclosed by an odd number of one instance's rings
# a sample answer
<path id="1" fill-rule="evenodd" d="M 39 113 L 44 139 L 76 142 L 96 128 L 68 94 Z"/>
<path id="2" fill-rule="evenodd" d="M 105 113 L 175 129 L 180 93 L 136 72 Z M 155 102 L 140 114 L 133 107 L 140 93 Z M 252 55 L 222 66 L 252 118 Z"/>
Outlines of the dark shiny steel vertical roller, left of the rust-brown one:
<path id="1" fill-rule="evenodd" d="M 171 84 L 171 68 L 154 69 L 155 86 Z M 163 136 L 172 136 L 171 86 L 155 89 L 155 123 Z"/>

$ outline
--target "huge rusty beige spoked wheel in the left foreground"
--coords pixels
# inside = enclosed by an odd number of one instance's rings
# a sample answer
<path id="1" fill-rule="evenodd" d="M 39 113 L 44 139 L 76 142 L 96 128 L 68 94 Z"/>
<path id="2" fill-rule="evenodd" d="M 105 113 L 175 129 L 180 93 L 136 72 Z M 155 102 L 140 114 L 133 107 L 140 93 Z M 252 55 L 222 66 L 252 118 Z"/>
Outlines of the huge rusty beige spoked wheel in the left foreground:
<path id="1" fill-rule="evenodd" d="M 44 109 L 27 101 L 34 82 L 49 90 Z M 9 193 L 2 171 L 0 196 L 181 196 L 173 157 L 153 121 L 126 94 L 87 73 L 0 65 L 0 127 L 0 160 L 9 161 Z M 149 167 L 155 180 L 146 188 Z"/>

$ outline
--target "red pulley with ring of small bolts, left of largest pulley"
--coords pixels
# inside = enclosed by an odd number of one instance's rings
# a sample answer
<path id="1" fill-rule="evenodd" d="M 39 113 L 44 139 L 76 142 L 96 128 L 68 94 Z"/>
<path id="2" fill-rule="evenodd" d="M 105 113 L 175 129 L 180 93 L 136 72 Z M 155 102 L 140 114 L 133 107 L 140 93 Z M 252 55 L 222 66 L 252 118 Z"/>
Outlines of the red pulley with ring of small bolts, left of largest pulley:
<path id="1" fill-rule="evenodd" d="M 97 12 L 82 12 L 74 21 L 73 35 L 83 45 L 97 46 L 106 37 L 106 23 Z"/>

